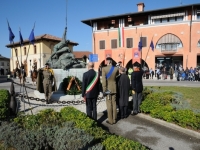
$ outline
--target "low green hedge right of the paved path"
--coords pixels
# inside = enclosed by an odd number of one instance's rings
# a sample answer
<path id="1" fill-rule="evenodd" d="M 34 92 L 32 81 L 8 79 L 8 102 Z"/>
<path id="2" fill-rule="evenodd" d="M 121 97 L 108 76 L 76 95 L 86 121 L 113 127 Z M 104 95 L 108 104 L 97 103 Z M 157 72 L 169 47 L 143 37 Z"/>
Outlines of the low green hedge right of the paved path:
<path id="1" fill-rule="evenodd" d="M 150 91 L 150 92 L 149 92 Z M 171 91 L 154 91 L 145 88 L 145 99 L 140 109 L 154 118 L 175 123 L 181 127 L 188 127 L 193 130 L 200 130 L 200 114 L 189 109 L 177 110 L 174 106 L 176 93 Z"/>

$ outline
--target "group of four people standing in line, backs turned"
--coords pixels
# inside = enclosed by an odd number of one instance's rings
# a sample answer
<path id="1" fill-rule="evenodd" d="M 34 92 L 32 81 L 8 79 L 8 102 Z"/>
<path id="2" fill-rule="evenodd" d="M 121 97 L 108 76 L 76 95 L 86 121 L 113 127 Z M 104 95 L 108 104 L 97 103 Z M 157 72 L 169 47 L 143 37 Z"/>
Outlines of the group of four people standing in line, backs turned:
<path id="1" fill-rule="evenodd" d="M 106 58 L 106 66 L 102 67 L 100 72 L 94 71 L 94 63 L 88 63 L 88 71 L 83 74 L 82 80 L 82 97 L 86 101 L 87 116 L 97 120 L 97 97 L 102 92 L 106 98 L 108 117 L 106 123 L 113 125 L 118 119 L 127 118 L 130 90 L 133 96 L 131 114 L 140 113 L 143 70 L 137 63 L 133 65 L 132 70 L 130 75 L 127 75 L 126 68 L 122 67 L 120 62 L 117 66 L 113 66 L 110 57 Z M 118 113 L 117 109 L 119 109 Z"/>

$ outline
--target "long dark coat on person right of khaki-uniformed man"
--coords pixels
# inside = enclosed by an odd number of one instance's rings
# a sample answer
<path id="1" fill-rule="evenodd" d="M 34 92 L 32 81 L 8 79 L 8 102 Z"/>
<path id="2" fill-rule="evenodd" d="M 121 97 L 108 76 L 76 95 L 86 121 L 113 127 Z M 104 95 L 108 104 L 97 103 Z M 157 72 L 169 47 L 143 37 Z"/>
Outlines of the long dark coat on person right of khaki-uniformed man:
<path id="1" fill-rule="evenodd" d="M 128 75 L 122 74 L 118 82 L 119 89 L 119 105 L 128 106 L 130 79 Z"/>

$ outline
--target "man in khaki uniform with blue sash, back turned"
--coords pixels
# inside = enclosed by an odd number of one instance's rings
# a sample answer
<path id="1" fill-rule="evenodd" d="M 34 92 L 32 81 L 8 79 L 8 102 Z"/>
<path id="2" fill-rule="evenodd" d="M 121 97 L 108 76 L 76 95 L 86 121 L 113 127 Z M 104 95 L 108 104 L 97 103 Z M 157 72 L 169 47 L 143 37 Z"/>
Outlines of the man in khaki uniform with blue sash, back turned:
<path id="1" fill-rule="evenodd" d="M 103 96 L 106 96 L 106 106 L 108 113 L 108 120 L 106 123 L 115 124 L 117 119 L 117 110 L 116 110 L 116 77 L 119 74 L 117 67 L 112 65 L 112 58 L 106 58 L 107 66 L 102 68 L 102 87 L 103 87 Z M 106 94 L 110 93 L 110 94 Z"/>

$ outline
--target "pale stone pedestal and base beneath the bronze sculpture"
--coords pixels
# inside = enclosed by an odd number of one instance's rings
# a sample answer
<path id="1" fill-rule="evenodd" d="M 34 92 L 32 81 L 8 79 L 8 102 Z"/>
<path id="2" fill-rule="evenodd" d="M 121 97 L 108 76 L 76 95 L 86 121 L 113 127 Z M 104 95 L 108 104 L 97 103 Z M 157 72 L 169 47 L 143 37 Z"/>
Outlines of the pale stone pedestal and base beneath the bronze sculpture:
<path id="1" fill-rule="evenodd" d="M 64 78 L 67 78 L 68 76 L 76 76 L 80 81 L 82 81 L 83 74 L 87 71 L 86 68 L 80 68 L 80 69 L 69 69 L 69 70 L 63 70 L 63 69 L 53 69 L 54 76 L 56 79 L 56 85 L 58 90 L 56 92 L 53 92 L 51 96 L 51 101 L 71 101 L 71 100 L 77 100 L 81 99 L 80 95 L 65 95 L 62 91 L 62 81 Z M 34 91 L 34 94 L 36 97 L 40 99 L 45 99 L 44 93 L 40 93 L 39 91 Z"/>

